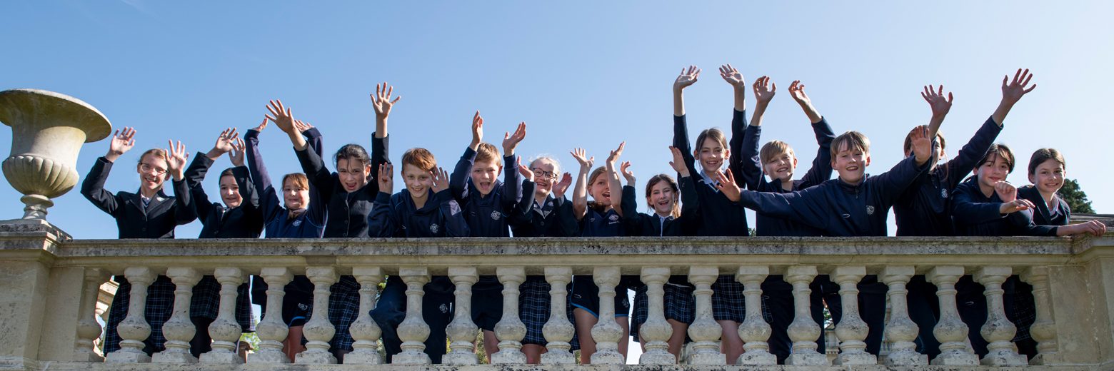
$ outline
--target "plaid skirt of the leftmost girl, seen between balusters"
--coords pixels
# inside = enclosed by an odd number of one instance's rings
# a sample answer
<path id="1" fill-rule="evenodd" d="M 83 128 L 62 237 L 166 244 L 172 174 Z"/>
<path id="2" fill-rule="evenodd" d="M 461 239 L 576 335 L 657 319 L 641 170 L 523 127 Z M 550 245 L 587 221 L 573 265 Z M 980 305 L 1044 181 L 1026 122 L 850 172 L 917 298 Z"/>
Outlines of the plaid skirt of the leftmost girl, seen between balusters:
<path id="1" fill-rule="evenodd" d="M 105 354 L 120 350 L 120 334 L 116 329 L 128 315 L 128 305 L 131 303 L 131 283 L 121 275 L 114 276 L 114 281 L 119 283 L 113 303 L 108 309 L 108 323 L 105 326 Z M 170 279 L 160 275 L 147 287 L 147 303 L 144 305 L 144 318 L 150 325 L 150 336 L 144 342 L 146 350 L 162 352 L 166 350 L 166 336 L 163 335 L 163 324 L 170 320 L 170 312 L 174 309 L 174 283 Z"/>

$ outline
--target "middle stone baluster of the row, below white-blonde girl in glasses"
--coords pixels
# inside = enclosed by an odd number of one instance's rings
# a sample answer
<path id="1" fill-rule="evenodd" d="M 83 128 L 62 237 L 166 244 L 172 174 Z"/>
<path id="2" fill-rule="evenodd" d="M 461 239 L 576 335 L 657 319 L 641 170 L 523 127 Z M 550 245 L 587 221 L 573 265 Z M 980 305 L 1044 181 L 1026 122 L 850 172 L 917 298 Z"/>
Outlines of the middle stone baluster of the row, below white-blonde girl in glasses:
<path id="1" fill-rule="evenodd" d="M 546 336 L 546 352 L 541 354 L 545 364 L 576 364 L 569 341 L 575 329 L 565 313 L 568 282 L 573 280 L 573 269 L 568 266 L 546 266 L 546 282 L 549 282 L 549 321 L 541 328 Z"/>

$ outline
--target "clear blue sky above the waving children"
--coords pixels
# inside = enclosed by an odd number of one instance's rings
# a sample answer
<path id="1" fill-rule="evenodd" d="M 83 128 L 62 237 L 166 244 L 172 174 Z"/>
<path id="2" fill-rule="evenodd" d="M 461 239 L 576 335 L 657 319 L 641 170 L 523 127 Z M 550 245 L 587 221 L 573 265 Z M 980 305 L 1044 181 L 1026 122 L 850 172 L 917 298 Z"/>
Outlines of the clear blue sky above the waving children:
<path id="1" fill-rule="evenodd" d="M 263 2 L 4 1 L 0 89 L 38 88 L 80 98 L 114 127 L 138 130 L 143 149 L 180 139 L 207 150 L 222 128 L 258 124 L 281 98 L 324 133 L 325 152 L 368 145 L 368 95 L 390 81 L 402 100 L 390 118 L 391 157 L 414 146 L 451 166 L 468 144 L 475 110 L 488 140 L 525 120 L 522 155 L 585 147 L 602 159 L 627 141 L 641 179 L 668 170 L 670 87 L 683 66 L 704 69 L 686 90 L 692 136 L 727 128 L 732 96 L 715 74 L 730 62 L 753 81 L 770 75 L 779 91 L 764 140 L 782 139 L 811 162 L 808 120 L 785 89 L 793 79 L 837 133 L 872 139 L 880 173 L 900 157 L 908 129 L 925 124 L 918 91 L 944 84 L 956 95 L 944 124 L 950 154 L 994 110 L 1000 79 L 1030 68 L 1037 89 L 1006 120 L 999 141 L 1019 158 L 1010 180 L 1027 184 L 1034 149 L 1064 152 L 1100 212 L 1114 213 L 1106 114 L 1114 74 L 1114 3 L 942 2 Z M 753 106 L 753 99 L 749 100 Z M 10 143 L 0 130 L 0 146 Z M 271 173 L 299 172 L 289 140 L 263 135 Z M 0 148 L 2 150 L 3 148 Z M 82 178 L 107 141 L 87 144 Z M 221 159 L 216 167 L 227 166 Z M 807 165 L 803 165 L 807 166 Z M 120 166 L 107 184 L 134 191 Z M 800 168 L 803 174 L 805 168 Z M 216 177 L 206 179 L 211 192 Z M 56 199 L 48 219 L 78 238 L 111 238 L 115 223 L 77 189 Z M 22 204 L 0 186 L 0 207 Z M 178 228 L 196 236 L 198 223 Z M 890 228 L 893 233 L 893 228 Z"/>

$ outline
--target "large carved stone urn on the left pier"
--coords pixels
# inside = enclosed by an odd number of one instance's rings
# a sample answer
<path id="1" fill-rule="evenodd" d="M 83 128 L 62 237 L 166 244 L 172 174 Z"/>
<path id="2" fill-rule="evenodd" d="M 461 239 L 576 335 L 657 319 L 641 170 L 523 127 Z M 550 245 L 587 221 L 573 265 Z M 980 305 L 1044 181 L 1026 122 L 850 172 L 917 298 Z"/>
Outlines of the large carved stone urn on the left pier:
<path id="1" fill-rule="evenodd" d="M 43 219 L 51 198 L 77 185 L 82 143 L 104 139 L 113 125 L 80 99 L 47 90 L 0 91 L 0 121 L 11 126 L 11 156 L 3 175 L 23 194 L 25 219 Z"/>

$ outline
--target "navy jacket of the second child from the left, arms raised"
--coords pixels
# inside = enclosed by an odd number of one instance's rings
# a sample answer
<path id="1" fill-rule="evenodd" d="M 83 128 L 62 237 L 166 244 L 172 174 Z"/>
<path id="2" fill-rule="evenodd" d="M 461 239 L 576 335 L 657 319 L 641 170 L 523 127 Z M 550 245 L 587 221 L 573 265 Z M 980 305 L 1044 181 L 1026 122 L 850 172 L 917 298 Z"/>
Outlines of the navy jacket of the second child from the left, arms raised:
<path id="1" fill-rule="evenodd" d="M 185 172 L 186 184 L 189 185 L 194 197 L 194 206 L 197 207 L 197 215 L 202 218 L 202 233 L 197 237 L 258 238 L 263 233 L 263 212 L 260 209 L 260 197 L 255 193 L 247 167 L 232 168 L 232 177 L 240 185 L 240 196 L 243 201 L 240 206 L 229 208 L 224 203 L 209 202 L 205 187 L 202 186 L 212 166 L 213 159 L 198 152 Z"/>

